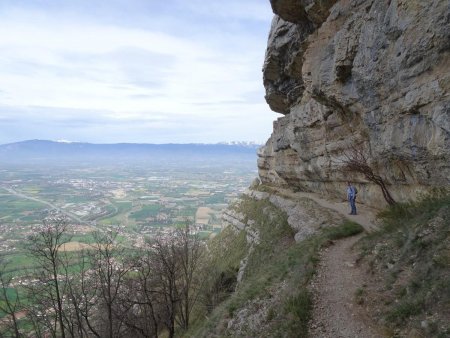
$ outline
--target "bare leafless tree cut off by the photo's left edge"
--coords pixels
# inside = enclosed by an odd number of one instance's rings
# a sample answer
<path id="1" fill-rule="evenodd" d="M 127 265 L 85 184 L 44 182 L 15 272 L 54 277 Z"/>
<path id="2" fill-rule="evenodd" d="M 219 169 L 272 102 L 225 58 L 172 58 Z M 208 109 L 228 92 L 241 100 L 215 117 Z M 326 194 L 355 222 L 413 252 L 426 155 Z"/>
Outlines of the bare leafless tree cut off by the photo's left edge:
<path id="1" fill-rule="evenodd" d="M 8 290 L 12 288 L 12 276 L 7 274 L 7 265 L 6 261 L 0 261 L 0 311 L 6 315 L 5 319 L 8 320 L 8 322 L 4 320 L 3 323 L 0 323 L 0 326 L 4 326 L 0 329 L 4 331 L 5 337 L 8 334 L 10 337 L 20 338 L 22 335 L 19 331 L 17 312 L 22 306 L 17 290 L 14 290 L 13 294 L 8 293 Z"/>

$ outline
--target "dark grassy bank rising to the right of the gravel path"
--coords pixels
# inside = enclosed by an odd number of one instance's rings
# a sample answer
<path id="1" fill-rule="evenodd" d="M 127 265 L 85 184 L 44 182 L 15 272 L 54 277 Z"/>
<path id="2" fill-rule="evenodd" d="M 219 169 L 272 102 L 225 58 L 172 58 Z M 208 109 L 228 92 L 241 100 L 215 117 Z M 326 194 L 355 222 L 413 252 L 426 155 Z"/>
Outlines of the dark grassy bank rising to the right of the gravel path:
<path id="1" fill-rule="evenodd" d="M 450 196 L 434 195 L 381 214 L 361 244 L 371 303 L 393 336 L 450 336 Z M 370 286 L 371 285 L 371 286 Z"/>

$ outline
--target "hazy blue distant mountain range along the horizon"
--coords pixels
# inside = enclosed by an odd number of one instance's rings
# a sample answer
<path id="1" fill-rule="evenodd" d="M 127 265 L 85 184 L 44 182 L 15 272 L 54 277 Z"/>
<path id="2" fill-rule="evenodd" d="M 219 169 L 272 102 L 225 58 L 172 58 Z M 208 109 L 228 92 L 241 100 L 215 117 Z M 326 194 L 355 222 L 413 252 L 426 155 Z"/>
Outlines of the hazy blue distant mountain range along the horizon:
<path id="1" fill-rule="evenodd" d="M 29 140 L 0 145 L 1 163 L 256 161 L 253 143 L 232 144 L 92 144 Z"/>

